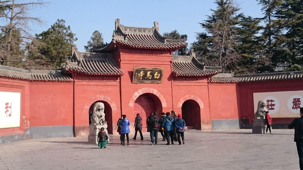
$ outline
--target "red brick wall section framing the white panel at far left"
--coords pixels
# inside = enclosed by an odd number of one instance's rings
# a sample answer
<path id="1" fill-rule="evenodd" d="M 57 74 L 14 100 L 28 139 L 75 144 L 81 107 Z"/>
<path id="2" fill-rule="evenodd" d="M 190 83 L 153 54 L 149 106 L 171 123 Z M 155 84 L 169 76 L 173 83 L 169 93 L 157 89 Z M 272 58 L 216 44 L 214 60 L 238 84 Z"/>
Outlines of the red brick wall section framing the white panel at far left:
<path id="1" fill-rule="evenodd" d="M 0 129 L 0 136 L 25 133 L 25 130 L 30 126 L 29 83 L 27 81 L 0 77 L 0 91 L 21 93 L 20 127 L 2 128 Z"/>

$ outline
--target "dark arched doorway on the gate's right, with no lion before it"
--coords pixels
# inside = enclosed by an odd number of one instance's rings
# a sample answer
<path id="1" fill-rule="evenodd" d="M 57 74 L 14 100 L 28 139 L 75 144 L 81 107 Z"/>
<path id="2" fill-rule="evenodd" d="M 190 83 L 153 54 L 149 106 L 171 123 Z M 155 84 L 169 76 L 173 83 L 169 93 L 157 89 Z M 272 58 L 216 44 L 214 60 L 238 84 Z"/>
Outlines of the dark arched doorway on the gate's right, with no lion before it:
<path id="1" fill-rule="evenodd" d="M 200 106 L 195 100 L 186 100 L 182 104 L 182 119 L 188 128 L 201 130 Z"/>

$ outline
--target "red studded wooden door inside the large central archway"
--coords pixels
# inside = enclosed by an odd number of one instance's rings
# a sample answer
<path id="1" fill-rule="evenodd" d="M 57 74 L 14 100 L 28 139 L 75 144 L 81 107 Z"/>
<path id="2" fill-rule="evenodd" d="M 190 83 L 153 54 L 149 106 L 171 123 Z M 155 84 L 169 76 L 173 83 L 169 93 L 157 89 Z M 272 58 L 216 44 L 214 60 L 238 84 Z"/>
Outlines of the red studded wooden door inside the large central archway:
<path id="1" fill-rule="evenodd" d="M 140 114 L 142 118 L 142 131 L 147 131 L 146 119 L 150 116 L 151 112 L 155 111 L 155 101 L 151 96 L 147 94 L 140 95 L 134 105 L 135 116 L 137 113 Z"/>

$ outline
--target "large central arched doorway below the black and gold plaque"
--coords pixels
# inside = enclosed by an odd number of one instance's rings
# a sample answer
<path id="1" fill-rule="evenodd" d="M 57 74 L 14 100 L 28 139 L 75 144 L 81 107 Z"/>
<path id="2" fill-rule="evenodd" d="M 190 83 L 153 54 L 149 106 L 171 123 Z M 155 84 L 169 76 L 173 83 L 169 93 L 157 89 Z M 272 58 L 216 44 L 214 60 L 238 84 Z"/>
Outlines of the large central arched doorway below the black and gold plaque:
<path id="1" fill-rule="evenodd" d="M 140 95 L 134 104 L 135 117 L 139 113 L 142 118 L 142 131 L 147 131 L 146 119 L 151 112 L 157 111 L 158 116 L 162 113 L 162 103 L 160 99 L 152 93 L 144 93 Z"/>

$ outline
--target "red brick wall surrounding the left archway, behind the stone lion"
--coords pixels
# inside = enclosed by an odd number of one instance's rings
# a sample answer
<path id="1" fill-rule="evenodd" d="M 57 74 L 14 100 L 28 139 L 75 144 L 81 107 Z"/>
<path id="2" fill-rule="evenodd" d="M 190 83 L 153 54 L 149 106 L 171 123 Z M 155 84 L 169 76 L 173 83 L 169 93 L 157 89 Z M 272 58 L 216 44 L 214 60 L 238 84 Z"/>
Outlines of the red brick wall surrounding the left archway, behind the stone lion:
<path id="1" fill-rule="evenodd" d="M 112 122 L 108 126 L 116 132 L 117 120 L 121 117 L 120 82 L 118 77 L 76 76 L 75 77 L 75 135 L 89 133 L 88 111 L 96 101 L 108 103 L 112 108 Z M 105 108 L 106 109 L 106 108 Z M 106 116 L 107 120 L 110 115 Z M 111 123 L 111 124 L 110 124 Z M 117 132 L 116 132 L 117 133 Z"/>

